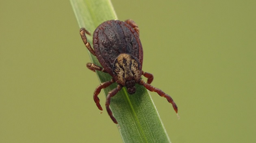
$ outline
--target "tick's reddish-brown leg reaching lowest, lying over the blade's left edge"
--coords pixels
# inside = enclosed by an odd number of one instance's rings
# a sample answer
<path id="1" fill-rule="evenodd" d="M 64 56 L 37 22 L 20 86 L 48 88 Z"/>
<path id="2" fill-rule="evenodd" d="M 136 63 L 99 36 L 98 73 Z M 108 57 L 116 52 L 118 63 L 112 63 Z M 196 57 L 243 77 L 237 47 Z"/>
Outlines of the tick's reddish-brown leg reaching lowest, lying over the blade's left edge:
<path id="1" fill-rule="evenodd" d="M 117 120 L 115 119 L 115 117 L 113 116 L 113 113 L 111 111 L 111 109 L 109 108 L 109 105 L 110 105 L 110 100 L 111 100 L 111 97 L 115 96 L 119 90 L 121 90 L 122 86 L 120 86 L 119 84 L 117 85 L 117 88 L 111 90 L 109 93 L 108 93 L 108 96 L 106 98 L 106 110 L 108 112 L 108 115 L 110 116 L 110 118 L 113 120 L 113 122 L 115 124 L 117 124 Z"/>

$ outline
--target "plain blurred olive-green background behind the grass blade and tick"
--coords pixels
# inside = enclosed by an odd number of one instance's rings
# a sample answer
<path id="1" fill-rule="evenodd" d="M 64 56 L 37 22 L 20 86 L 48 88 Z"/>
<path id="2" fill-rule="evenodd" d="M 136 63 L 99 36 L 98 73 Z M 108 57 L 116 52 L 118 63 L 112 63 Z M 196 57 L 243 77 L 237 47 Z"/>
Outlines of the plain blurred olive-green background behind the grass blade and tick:
<path id="1" fill-rule="evenodd" d="M 112 0 L 139 25 L 174 143 L 256 142 L 256 1 Z M 0 142 L 120 143 L 68 0 L 0 2 Z M 104 103 L 105 98 L 100 94 Z"/>

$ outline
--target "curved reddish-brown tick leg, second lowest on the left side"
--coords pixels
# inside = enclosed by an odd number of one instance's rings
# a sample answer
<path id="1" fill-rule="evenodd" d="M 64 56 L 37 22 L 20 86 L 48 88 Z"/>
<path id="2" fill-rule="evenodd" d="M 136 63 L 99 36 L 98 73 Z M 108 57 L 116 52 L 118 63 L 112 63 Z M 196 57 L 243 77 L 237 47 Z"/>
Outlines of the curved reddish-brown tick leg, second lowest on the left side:
<path id="1" fill-rule="evenodd" d="M 98 97 L 98 95 L 100 94 L 100 90 L 102 88 L 106 88 L 108 86 L 110 86 L 111 84 L 115 83 L 115 80 L 114 78 L 112 78 L 110 81 L 107 81 L 107 82 L 103 82 L 102 84 L 100 84 L 94 91 L 93 93 L 93 99 L 94 99 L 94 102 L 96 103 L 97 107 L 100 109 L 100 110 L 103 110 L 101 105 L 100 105 L 100 99 Z"/>

